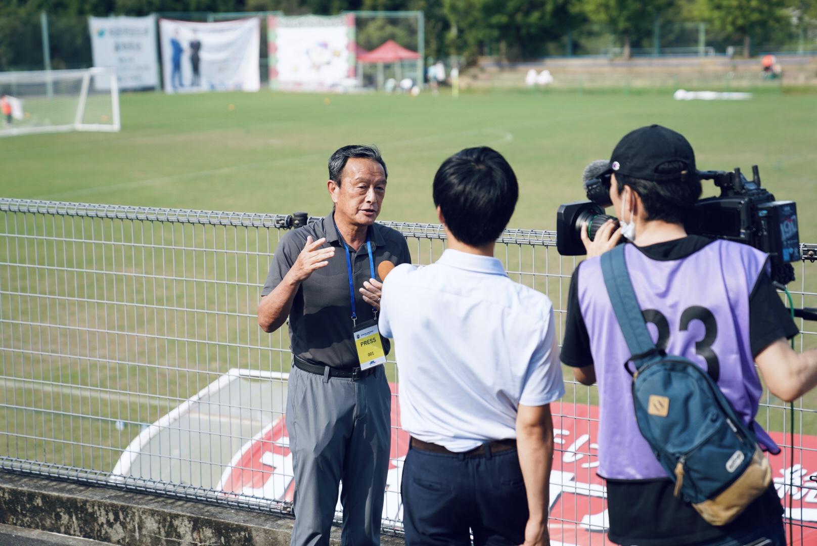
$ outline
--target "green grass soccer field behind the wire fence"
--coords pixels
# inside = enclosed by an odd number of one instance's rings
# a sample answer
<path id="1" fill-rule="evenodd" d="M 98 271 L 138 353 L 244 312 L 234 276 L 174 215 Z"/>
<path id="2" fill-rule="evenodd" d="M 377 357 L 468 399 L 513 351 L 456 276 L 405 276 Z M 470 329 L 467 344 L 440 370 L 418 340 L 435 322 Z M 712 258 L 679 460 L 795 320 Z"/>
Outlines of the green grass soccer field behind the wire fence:
<path id="1" fill-rule="evenodd" d="M 739 166 L 744 172 L 751 172 L 752 164 L 757 163 L 764 185 L 779 199 L 797 200 L 801 241 L 817 243 L 817 219 L 811 213 L 817 206 L 817 175 L 813 168 L 817 159 L 817 95 L 761 92 L 751 101 L 679 102 L 672 100 L 672 92 L 583 95 L 506 92 L 467 94 L 458 100 L 430 94 L 409 98 L 273 92 L 196 96 L 143 93 L 123 95 L 121 107 L 123 130 L 119 133 L 74 132 L 0 139 L 0 196 L 241 212 L 306 210 L 312 215 L 323 215 L 331 206 L 325 190 L 329 154 L 341 145 L 361 142 L 380 146 L 389 168 L 390 182 L 381 219 L 435 222 L 431 180 L 436 168 L 446 157 L 464 147 L 490 145 L 506 155 L 520 180 L 520 202 L 511 227 L 553 229 L 557 205 L 584 198 L 581 173 L 587 163 L 609 157 L 615 143 L 627 131 L 648 123 L 661 123 L 689 138 L 696 150 L 699 168 L 730 170 Z M 712 186 L 705 186 L 706 195 L 714 193 Z M 11 223 L 14 230 L 34 233 L 35 226 L 30 222 L 15 219 Z M 69 222 L 69 230 L 65 225 L 43 222 L 40 235 L 74 238 L 80 229 L 90 231 L 95 226 L 97 230 L 108 229 L 108 224 L 101 221 L 72 222 Z M 186 236 L 187 247 L 234 250 L 247 250 L 256 244 L 255 239 L 252 242 L 233 240 L 233 231 L 225 229 L 222 233 L 221 228 L 216 227 L 212 230 L 179 225 L 167 230 L 150 227 L 147 232 L 143 228 L 141 233 L 135 227 L 128 229 L 133 231 L 123 230 L 121 234 L 111 233 L 105 237 L 118 242 L 127 239 L 134 244 L 169 244 L 172 239 L 180 245 Z M 96 236 L 100 236 L 100 231 Z M 259 248 L 270 244 L 275 248 L 275 240 L 261 244 L 261 235 L 252 236 L 258 237 Z M 560 262 L 553 257 L 548 262 L 548 256 L 555 253 L 547 254 L 547 249 L 531 251 L 528 247 L 523 254 L 520 248 L 517 255 L 517 248 L 509 246 L 501 249 L 504 254 L 500 257 L 507 262 L 509 271 L 520 273 L 511 276 L 528 284 L 535 282 L 538 289 L 547 289 L 556 307 L 563 309 L 567 295 L 564 277 L 562 280 L 558 276 L 547 280 L 538 277 L 537 280 L 533 272 L 569 275 L 569 269 L 561 270 Z M 427 263 L 440 249 L 439 242 L 425 244 L 422 257 L 414 258 Z M 24 242 L 20 249 L 13 246 L 7 249 L 0 244 L 2 261 L 22 260 L 23 251 L 25 259 L 37 263 L 52 260 L 65 268 L 83 269 L 92 260 L 97 264 L 107 260 L 118 271 L 184 276 L 169 269 L 172 251 L 167 256 L 163 252 L 160 255 L 150 252 L 145 257 L 145 253 L 139 256 L 131 247 L 127 247 L 126 253 L 126 248 L 116 245 L 102 248 L 99 244 L 80 243 L 65 248 L 29 243 L 27 247 Z M 96 393 L 85 396 L 81 388 L 55 394 L 48 389 L 35 392 L 33 388 L 7 385 L 0 390 L 5 403 L 33 404 L 65 415 L 55 419 L 52 415 L 46 418 L 42 412 L 32 417 L 24 410 L 0 411 L 0 427 L 6 423 L 6 432 L 28 431 L 30 434 L 31 427 L 35 427 L 38 433 L 32 436 L 79 439 L 87 445 L 78 446 L 76 452 L 72 448 L 69 454 L 59 453 L 55 447 L 60 444 L 32 437 L 12 446 L 13 449 L 0 442 L 0 454 L 12 451 L 27 457 L 34 454 L 38 460 L 62 460 L 109 471 L 119 450 L 138 433 L 141 425 L 151 423 L 178 401 L 206 386 L 217 374 L 224 373 L 231 358 L 232 362 L 250 369 L 269 365 L 268 352 L 243 351 L 236 347 L 222 350 L 199 342 L 175 342 L 174 345 L 150 338 L 151 334 L 160 338 L 167 333 L 168 324 L 171 329 L 175 324 L 176 331 L 171 333 L 180 338 L 201 339 L 205 335 L 201 329 L 209 332 L 207 339 L 221 336 L 228 342 L 243 342 L 252 347 L 262 346 L 266 342 L 262 339 L 267 339 L 262 338 L 254 320 L 243 317 L 255 311 L 256 287 L 249 285 L 263 281 L 264 259 L 257 257 L 255 262 L 236 260 L 233 263 L 228 262 L 226 254 L 180 252 L 178 259 L 173 257 L 173 260 L 174 267 L 187 267 L 186 277 L 239 280 L 245 286 L 230 287 L 223 294 L 215 291 L 197 294 L 194 282 L 154 280 L 151 285 L 150 279 L 125 278 L 123 285 L 122 278 L 117 281 L 110 275 L 99 275 L 97 279 L 96 275 L 72 276 L 60 272 L 54 273 L 49 281 L 40 277 L 27 279 L 16 276 L 18 271 L 12 275 L 0 268 L 0 287 L 5 285 L 12 291 L 48 292 L 50 282 L 51 290 L 59 287 L 61 295 L 107 298 L 145 306 L 132 309 L 118 303 L 89 308 L 87 303 L 83 306 L 81 302 L 69 302 L 64 311 L 60 307 L 60 313 L 64 314 L 53 320 L 63 323 L 67 320 L 80 329 L 94 329 L 107 320 L 107 324 L 114 324 L 109 326 L 113 331 L 136 332 L 132 337 L 115 333 L 101 336 L 96 333 L 94 337 L 75 330 L 36 326 L 25 336 L 20 329 L 17 336 L 13 328 L 0 329 L 0 342 L 4 347 L 11 343 L 16 343 L 16 347 L 36 346 L 47 339 L 51 347 L 74 347 L 85 356 L 101 355 L 101 347 L 113 347 L 114 342 L 123 341 L 115 350 L 105 349 L 109 351 L 106 355 L 118 360 L 114 364 L 86 361 L 82 357 L 50 364 L 42 356 L 32 355 L 4 360 L 4 375 L 153 396 L 151 399 L 143 396 L 138 400 L 127 397 L 111 400 L 110 396 L 100 397 Z M 806 271 L 806 284 L 798 280 L 793 288 L 813 294 L 817 292 L 817 265 L 806 264 Z M 89 289 L 91 284 L 92 290 Z M 183 296 L 182 289 L 188 290 Z M 109 295 L 103 298 L 97 291 Z M 212 301 L 214 296 L 216 301 Z M 221 304 L 217 301 L 219 298 Z M 798 298 L 796 303 L 817 307 L 817 297 L 807 295 Z M 51 318 L 48 317 L 52 308 L 49 305 L 42 298 L 33 304 L 26 298 L 0 298 L 0 310 L 5 308 L 9 316 L 25 316 L 33 324 L 42 317 Z M 162 307 L 190 307 L 193 311 L 171 311 L 168 315 L 157 311 Z M 241 320 L 213 315 L 225 309 L 242 316 Z M 164 332 L 158 324 L 163 325 Z M 810 329 L 814 331 L 813 327 Z M 276 333 L 273 347 L 287 347 L 285 338 Z M 817 335 L 810 334 L 807 338 L 806 347 L 817 345 L 811 339 Z M 131 345 L 127 345 L 128 339 Z M 177 359 L 172 362 L 176 369 L 162 369 L 170 364 L 168 353 Z M 283 357 L 275 358 L 275 369 L 288 369 L 283 360 Z M 158 369 L 128 365 L 128 361 L 158 363 Z M 390 375 L 394 377 L 393 369 Z M 583 387 L 569 389 L 569 398 L 576 401 L 595 403 L 595 394 L 595 390 L 587 391 Z M 798 404 L 806 410 L 799 414 L 799 430 L 817 433 L 817 414 L 810 411 L 817 407 L 817 397 L 809 396 Z M 70 417 L 77 413 L 102 419 Z M 41 418 L 42 426 L 38 424 Z M 114 419 L 118 418 L 127 421 L 124 431 L 114 428 Z M 774 409 L 770 410 L 768 421 L 763 413 L 759 421 L 768 423 L 773 430 L 782 430 L 782 418 L 782 410 Z M 103 445 L 110 449 L 97 449 Z"/>

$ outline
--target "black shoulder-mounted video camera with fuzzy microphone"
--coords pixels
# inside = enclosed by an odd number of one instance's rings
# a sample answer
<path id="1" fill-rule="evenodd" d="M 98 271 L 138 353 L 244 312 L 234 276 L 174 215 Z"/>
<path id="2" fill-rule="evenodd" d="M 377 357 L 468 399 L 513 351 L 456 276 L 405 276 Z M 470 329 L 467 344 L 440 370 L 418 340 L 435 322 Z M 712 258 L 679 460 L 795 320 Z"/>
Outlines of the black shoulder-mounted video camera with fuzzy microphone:
<path id="1" fill-rule="evenodd" d="M 604 212 L 611 205 L 610 172 L 605 163 L 595 161 L 585 169 L 584 186 L 589 200 L 560 205 L 556 213 L 556 249 L 562 256 L 586 253 L 581 238 L 584 222 L 591 240 L 609 219 L 618 222 Z M 721 195 L 699 199 L 694 204 L 685 222 L 687 233 L 748 244 L 769 254 L 772 280 L 779 284 L 794 280 L 791 262 L 801 259 L 797 204 L 776 201 L 774 195 L 761 187 L 757 165 L 752 166 L 752 180 L 747 180 L 739 168 L 732 172 L 699 171 L 698 176 L 714 181 L 721 188 Z"/>

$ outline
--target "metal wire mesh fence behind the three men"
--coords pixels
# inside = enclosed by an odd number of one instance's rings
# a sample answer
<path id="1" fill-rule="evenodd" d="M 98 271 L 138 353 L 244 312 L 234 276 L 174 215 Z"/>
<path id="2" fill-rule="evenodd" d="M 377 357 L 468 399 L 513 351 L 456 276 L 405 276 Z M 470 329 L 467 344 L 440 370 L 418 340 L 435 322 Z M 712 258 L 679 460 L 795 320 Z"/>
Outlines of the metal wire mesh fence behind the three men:
<path id="1" fill-rule="evenodd" d="M 287 219 L 0 199 L 0 468 L 289 512 L 288 338 L 262 333 L 255 314 Z M 383 223 L 415 263 L 444 249 L 438 225 Z M 802 251 L 790 289 L 795 305 L 817 307 L 817 244 Z M 556 234 L 507 230 L 496 253 L 513 280 L 548 294 L 561 336 L 577 261 L 556 253 Z M 817 346 L 799 325 L 798 347 Z M 395 363 L 386 371 L 395 385 Z M 784 447 L 775 480 L 803 544 L 817 539 L 815 400 L 798 401 L 792 420 L 767 393 L 758 415 Z M 596 401 L 595 387 L 568 381 L 553 409 L 551 538 L 563 544 L 605 543 Z M 394 413 L 383 524 L 400 532 L 408 438 Z"/>

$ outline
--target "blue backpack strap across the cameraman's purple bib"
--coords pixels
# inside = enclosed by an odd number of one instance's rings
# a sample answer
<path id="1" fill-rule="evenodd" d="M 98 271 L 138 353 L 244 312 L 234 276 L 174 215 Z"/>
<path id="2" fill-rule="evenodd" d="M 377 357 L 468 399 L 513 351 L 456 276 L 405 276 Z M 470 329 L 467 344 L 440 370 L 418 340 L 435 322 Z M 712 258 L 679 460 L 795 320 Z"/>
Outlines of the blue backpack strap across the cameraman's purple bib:
<path id="1" fill-rule="evenodd" d="M 659 360 L 662 353 L 655 347 L 650 330 L 641 314 L 636 291 L 632 288 L 630 272 L 627 271 L 627 261 L 624 256 L 626 244 L 620 244 L 601 255 L 601 272 L 605 278 L 605 286 L 613 305 L 618 325 L 627 341 L 627 348 L 632 356 L 630 360 L 636 369 L 654 360 Z M 627 362 L 624 363 L 627 368 Z M 629 369 L 627 369 L 629 371 Z"/>

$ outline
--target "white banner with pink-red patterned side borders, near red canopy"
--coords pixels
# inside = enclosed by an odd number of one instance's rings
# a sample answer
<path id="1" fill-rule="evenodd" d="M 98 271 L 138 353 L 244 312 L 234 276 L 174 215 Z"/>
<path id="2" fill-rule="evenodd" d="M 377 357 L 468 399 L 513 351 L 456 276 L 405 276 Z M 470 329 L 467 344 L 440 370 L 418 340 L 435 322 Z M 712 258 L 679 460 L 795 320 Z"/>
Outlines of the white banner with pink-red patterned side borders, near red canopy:
<path id="1" fill-rule="evenodd" d="M 354 87 L 355 16 L 270 16 L 270 87 L 342 91 Z"/>

